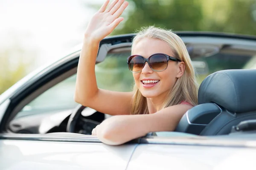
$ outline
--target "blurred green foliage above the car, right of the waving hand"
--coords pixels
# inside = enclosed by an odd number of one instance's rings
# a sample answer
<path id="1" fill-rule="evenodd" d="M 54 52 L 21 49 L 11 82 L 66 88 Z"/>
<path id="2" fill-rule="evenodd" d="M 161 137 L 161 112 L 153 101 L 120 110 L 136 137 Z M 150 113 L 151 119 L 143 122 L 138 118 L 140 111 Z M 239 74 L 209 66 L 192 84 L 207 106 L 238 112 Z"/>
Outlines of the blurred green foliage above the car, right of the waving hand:
<path id="1" fill-rule="evenodd" d="M 256 34 L 255 0 L 128 0 L 122 28 L 113 34 L 132 33 L 155 25 L 174 31 L 220 31 Z"/>

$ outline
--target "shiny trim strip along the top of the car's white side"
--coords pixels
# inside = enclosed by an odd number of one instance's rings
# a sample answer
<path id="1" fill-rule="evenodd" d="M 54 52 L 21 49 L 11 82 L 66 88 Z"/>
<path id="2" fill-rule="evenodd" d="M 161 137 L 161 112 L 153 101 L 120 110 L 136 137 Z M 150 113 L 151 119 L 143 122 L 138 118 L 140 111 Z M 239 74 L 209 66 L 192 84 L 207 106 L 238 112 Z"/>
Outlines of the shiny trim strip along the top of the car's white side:
<path id="1" fill-rule="evenodd" d="M 139 141 L 133 140 L 128 143 L 139 144 L 172 144 L 172 145 L 191 145 L 191 146 L 213 146 L 213 147 L 253 147 L 256 148 L 256 140 L 242 139 L 233 140 L 225 136 L 222 139 L 206 136 L 181 136 L 181 137 L 159 137 L 148 136 L 140 138 Z M 215 138 L 215 139 L 214 139 Z M 30 141 L 53 141 L 53 142 L 95 142 L 101 143 L 96 136 L 91 135 L 57 135 L 57 134 L 0 134 L 0 140 L 30 140 Z"/>

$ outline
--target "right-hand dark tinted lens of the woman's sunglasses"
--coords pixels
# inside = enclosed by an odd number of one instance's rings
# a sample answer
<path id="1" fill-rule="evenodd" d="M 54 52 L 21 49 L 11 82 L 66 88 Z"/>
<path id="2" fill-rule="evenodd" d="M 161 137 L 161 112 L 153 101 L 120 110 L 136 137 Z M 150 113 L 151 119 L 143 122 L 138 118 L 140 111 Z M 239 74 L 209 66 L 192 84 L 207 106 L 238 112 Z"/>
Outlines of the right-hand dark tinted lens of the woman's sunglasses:
<path id="1" fill-rule="evenodd" d="M 167 68 L 167 57 L 163 54 L 155 54 L 150 57 L 149 64 L 155 71 L 163 71 Z"/>

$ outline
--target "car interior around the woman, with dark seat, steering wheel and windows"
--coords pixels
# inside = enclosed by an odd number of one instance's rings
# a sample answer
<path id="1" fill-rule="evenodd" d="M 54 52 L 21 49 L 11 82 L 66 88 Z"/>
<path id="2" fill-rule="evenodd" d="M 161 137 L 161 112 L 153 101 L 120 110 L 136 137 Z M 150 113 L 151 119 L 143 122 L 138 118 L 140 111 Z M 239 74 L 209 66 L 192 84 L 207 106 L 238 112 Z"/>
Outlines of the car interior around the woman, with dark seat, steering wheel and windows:
<path id="1" fill-rule="evenodd" d="M 186 45 L 201 85 L 198 105 L 184 114 L 175 132 L 218 136 L 256 125 L 248 122 L 256 119 L 256 48 L 224 42 Z M 95 68 L 99 88 L 131 91 L 133 77 L 125 62 L 130 51 L 131 42 L 101 46 Z M 6 133 L 90 135 L 96 125 L 110 117 L 73 101 L 78 58 L 79 51 L 58 61 L 59 65 L 49 69 L 58 74 L 48 76 L 17 102 L 10 111 Z"/>

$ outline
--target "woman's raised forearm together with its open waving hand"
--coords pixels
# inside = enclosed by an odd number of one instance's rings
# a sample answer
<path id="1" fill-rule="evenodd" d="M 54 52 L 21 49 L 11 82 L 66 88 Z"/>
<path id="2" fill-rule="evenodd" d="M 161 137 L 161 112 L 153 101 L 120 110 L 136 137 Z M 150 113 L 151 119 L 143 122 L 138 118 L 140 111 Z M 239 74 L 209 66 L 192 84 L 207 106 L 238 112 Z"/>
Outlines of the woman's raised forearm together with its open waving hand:
<path id="1" fill-rule="evenodd" d="M 107 37 L 123 20 L 119 17 L 128 2 L 115 0 L 108 6 L 106 0 L 102 7 L 91 18 L 84 34 L 84 43 L 79 57 L 74 100 L 82 105 L 91 105 L 99 89 L 96 83 L 95 62 L 99 42 Z M 94 98 L 95 99 L 95 98 Z"/>

